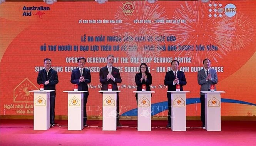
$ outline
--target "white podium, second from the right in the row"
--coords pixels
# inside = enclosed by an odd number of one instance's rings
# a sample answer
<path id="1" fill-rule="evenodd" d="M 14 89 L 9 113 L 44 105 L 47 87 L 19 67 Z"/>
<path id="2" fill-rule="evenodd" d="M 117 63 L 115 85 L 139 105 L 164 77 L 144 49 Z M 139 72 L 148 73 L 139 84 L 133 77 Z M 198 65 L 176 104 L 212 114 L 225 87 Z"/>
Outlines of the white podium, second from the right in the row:
<path id="1" fill-rule="evenodd" d="M 171 129 L 186 131 L 186 93 L 190 91 L 167 91 L 171 93 Z"/>

